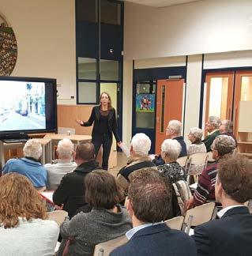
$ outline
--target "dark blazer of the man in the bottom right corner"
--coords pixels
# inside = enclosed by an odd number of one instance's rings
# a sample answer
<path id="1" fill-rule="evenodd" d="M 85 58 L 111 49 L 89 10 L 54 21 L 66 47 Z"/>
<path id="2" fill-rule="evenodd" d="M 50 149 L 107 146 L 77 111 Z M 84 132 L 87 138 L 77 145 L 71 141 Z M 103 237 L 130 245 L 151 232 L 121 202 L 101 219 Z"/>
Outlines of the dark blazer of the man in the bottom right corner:
<path id="1" fill-rule="evenodd" d="M 229 209 L 218 220 L 194 228 L 197 255 L 251 256 L 252 216 L 245 206 Z"/>

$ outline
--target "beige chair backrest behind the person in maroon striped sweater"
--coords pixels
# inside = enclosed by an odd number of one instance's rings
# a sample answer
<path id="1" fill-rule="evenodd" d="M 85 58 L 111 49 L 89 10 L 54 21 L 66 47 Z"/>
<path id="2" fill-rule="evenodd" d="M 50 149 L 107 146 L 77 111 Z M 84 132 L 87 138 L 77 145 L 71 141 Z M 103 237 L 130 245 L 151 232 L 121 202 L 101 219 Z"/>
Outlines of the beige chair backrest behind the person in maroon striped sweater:
<path id="1" fill-rule="evenodd" d="M 212 220 L 214 208 L 215 208 L 215 203 L 209 202 L 204 205 L 199 205 L 194 207 L 193 209 L 187 210 L 184 224 L 187 224 L 190 216 L 193 216 L 193 219 L 191 221 L 192 226 L 197 226 L 209 220 Z"/>

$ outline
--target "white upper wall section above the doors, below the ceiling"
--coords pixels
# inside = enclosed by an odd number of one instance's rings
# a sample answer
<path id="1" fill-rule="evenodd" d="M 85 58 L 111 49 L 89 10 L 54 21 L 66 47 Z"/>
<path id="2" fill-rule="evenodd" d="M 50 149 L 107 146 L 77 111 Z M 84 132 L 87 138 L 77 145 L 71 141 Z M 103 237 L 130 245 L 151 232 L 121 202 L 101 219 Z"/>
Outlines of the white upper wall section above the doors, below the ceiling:
<path id="1" fill-rule="evenodd" d="M 160 58 L 252 49 L 252 1 L 154 8 L 125 3 L 124 56 Z"/>

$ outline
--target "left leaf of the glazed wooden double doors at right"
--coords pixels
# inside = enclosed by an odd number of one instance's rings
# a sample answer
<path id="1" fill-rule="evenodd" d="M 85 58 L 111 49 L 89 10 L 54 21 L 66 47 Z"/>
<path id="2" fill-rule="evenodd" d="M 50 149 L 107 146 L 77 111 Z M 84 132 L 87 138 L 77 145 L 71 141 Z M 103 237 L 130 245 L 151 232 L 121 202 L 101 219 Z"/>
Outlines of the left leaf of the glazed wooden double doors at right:
<path id="1" fill-rule="evenodd" d="M 205 122 L 211 115 L 231 120 L 234 77 L 234 72 L 206 74 Z"/>

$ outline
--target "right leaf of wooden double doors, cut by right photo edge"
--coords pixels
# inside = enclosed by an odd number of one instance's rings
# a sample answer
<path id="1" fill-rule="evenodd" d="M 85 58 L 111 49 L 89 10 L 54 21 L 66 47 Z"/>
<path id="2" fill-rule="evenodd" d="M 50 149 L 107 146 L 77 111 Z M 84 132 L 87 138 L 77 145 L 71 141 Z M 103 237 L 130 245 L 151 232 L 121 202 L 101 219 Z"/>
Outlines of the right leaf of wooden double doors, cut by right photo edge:
<path id="1" fill-rule="evenodd" d="M 252 71 L 237 71 L 235 73 L 235 101 L 233 111 L 234 134 L 239 130 L 239 102 L 252 101 Z M 248 111 L 251 111 L 248 109 Z"/>

